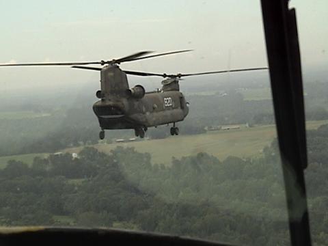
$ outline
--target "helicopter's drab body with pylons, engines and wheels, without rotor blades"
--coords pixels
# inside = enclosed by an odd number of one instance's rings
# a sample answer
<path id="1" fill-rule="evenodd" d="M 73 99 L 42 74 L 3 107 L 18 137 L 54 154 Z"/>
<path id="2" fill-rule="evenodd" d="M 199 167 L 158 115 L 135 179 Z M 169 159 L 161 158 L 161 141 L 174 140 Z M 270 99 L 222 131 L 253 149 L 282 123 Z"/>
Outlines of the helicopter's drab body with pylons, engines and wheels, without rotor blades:
<path id="1" fill-rule="evenodd" d="M 126 73 L 116 65 L 105 66 L 100 70 L 100 98 L 94 103 L 101 131 L 134 129 L 135 135 L 144 137 L 148 127 L 173 123 L 172 135 L 178 135 L 176 122 L 184 120 L 189 112 L 187 102 L 179 90 L 177 79 L 162 81 L 162 90 L 145 92 L 142 85 L 130 88 Z"/>

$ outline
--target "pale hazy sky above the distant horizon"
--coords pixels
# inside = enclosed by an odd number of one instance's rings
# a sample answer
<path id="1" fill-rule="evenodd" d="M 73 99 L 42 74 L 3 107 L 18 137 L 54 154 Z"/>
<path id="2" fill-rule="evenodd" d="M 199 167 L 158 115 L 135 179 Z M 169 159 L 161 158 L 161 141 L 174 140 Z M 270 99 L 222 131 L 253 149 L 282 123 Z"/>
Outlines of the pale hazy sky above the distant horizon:
<path id="1" fill-rule="evenodd" d="M 328 1 L 292 0 L 291 5 L 297 8 L 303 66 L 327 66 Z M 259 0 L 0 0 L 0 21 L 1 63 L 98 61 L 137 51 L 194 49 L 121 68 L 202 72 L 267 66 Z M 98 79 L 97 72 L 69 67 L 0 68 L 1 90 Z"/>

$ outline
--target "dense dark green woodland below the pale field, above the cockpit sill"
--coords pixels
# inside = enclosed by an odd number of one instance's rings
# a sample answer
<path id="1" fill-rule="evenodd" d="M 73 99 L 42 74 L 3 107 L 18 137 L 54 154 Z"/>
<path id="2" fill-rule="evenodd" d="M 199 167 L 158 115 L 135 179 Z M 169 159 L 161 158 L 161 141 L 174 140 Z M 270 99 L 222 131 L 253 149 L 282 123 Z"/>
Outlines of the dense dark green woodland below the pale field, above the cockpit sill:
<path id="1" fill-rule="evenodd" d="M 312 238 L 328 241 L 328 126 L 308 133 L 306 170 Z M 181 234 L 242 245 L 288 245 L 277 142 L 257 159 L 206 153 L 152 165 L 133 148 L 85 148 L 10 161 L 0 171 L 3 226 L 107 226 Z"/>

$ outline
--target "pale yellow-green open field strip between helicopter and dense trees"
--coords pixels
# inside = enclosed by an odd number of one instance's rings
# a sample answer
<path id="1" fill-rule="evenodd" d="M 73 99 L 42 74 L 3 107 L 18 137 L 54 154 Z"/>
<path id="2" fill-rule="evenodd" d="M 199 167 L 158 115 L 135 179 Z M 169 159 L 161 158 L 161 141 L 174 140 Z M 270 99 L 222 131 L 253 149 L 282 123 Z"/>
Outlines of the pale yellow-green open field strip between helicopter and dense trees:
<path id="1" fill-rule="evenodd" d="M 307 122 L 307 128 L 318 128 L 328 121 Z M 149 152 L 153 163 L 169 165 L 172 157 L 180 159 L 199 152 L 207 152 L 220 160 L 228 156 L 253 157 L 262 153 L 276 137 L 274 125 L 240 128 L 226 131 L 210 131 L 200 135 L 180 135 L 166 139 L 143 140 L 128 143 L 99 143 L 94 147 L 109 153 L 118 146 L 134 147 L 139 152 Z M 79 152 L 82 148 L 70 148 L 67 152 Z"/>

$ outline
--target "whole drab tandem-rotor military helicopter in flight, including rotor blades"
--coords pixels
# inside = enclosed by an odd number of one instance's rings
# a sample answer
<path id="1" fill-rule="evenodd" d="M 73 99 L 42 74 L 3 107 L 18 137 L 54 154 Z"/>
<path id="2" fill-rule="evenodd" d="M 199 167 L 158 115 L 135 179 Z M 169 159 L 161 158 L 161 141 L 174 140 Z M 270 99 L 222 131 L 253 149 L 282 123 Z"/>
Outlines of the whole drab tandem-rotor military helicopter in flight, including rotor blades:
<path id="1" fill-rule="evenodd" d="M 127 61 L 148 59 L 163 55 L 189 52 L 172 51 L 156 55 L 148 55 L 152 51 L 141 51 L 120 59 L 110 61 L 85 61 L 85 62 L 59 62 L 59 63 L 31 63 L 31 64 L 0 64 L 0 66 L 72 66 L 86 70 L 100 71 L 100 90 L 96 92 L 99 98 L 93 105 L 101 131 L 99 138 L 105 138 L 105 130 L 134 129 L 135 136 L 143 138 L 149 127 L 163 124 L 173 124 L 170 128 L 171 135 L 178 135 L 179 128 L 176 122 L 186 118 L 189 113 L 189 102 L 180 92 L 179 81 L 181 77 L 217 74 L 224 72 L 241 72 L 249 70 L 265 70 L 267 68 L 246 68 L 237 70 L 221 70 L 213 72 L 199 72 L 191 74 L 158 74 L 152 72 L 135 72 L 121 70 L 119 65 Z M 101 68 L 81 66 L 100 64 Z M 161 90 L 146 92 L 142 85 L 130 88 L 126 74 L 136 76 L 163 77 Z"/>

